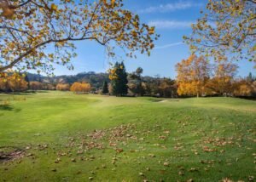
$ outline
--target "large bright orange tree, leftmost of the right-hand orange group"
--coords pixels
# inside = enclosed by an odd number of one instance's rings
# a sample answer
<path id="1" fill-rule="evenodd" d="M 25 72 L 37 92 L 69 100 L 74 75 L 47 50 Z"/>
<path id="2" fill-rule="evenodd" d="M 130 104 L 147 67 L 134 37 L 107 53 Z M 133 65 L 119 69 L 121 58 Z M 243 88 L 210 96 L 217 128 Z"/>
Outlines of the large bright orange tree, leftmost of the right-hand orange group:
<path id="1" fill-rule="evenodd" d="M 205 94 L 210 64 L 203 56 L 192 54 L 188 60 L 182 60 L 176 65 L 176 71 L 177 94 L 197 97 Z"/>

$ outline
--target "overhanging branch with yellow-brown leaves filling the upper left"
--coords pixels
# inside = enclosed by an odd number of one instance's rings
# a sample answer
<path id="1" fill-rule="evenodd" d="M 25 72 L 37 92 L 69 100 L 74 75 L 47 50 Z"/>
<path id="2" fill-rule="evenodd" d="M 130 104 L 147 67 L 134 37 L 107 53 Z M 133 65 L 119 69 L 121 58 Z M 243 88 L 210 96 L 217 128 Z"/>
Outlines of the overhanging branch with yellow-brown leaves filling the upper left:
<path id="1" fill-rule="evenodd" d="M 123 0 L 0 0 L 0 72 L 13 67 L 20 71 L 52 73 L 55 64 L 73 69 L 74 42 L 91 40 L 127 56 L 150 54 L 154 27 L 123 8 Z"/>

